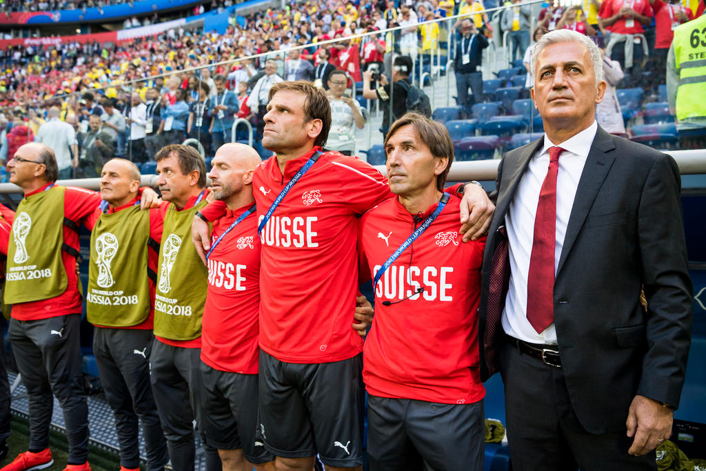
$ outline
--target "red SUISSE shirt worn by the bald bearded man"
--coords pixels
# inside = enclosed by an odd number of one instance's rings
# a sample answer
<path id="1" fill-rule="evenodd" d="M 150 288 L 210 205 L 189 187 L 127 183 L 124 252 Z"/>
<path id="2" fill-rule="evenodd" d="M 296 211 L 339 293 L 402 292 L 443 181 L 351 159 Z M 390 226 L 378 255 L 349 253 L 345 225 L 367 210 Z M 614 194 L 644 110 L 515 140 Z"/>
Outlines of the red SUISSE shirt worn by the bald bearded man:
<path id="1" fill-rule="evenodd" d="M 247 205 L 213 223 L 211 244 Z M 208 294 L 201 321 L 201 360 L 220 371 L 257 374 L 260 239 L 257 216 L 239 222 L 208 257 Z"/>

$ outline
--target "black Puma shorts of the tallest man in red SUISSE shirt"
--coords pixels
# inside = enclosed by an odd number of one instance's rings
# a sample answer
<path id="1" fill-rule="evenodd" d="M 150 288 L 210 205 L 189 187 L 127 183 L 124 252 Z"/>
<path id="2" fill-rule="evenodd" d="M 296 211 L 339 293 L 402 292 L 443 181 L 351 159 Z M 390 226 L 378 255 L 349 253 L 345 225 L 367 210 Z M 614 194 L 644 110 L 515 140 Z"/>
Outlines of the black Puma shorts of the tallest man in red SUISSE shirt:
<path id="1" fill-rule="evenodd" d="M 363 354 L 332 363 L 285 363 L 260 352 L 260 427 L 282 458 L 315 456 L 325 465 L 363 464 Z"/>

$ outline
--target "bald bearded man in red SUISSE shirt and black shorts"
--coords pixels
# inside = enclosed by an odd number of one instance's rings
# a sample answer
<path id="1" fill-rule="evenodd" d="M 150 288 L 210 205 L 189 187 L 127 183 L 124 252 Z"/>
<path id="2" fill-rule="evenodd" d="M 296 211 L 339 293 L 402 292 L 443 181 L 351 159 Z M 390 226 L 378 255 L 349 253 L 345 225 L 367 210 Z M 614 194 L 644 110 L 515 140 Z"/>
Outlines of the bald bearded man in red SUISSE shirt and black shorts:
<path id="1" fill-rule="evenodd" d="M 208 291 L 201 325 L 204 428 L 224 471 L 273 470 L 273 455 L 256 441 L 260 238 L 253 172 L 261 160 L 243 144 L 216 152 L 208 177 L 227 215 L 210 233 Z"/>

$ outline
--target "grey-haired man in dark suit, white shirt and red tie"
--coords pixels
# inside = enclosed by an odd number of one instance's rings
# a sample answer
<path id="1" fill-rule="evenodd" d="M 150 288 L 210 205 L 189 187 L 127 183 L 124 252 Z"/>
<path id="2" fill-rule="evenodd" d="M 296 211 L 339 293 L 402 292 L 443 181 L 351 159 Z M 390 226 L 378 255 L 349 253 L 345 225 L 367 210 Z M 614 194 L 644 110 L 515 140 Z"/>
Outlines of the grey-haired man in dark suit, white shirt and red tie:
<path id="1" fill-rule="evenodd" d="M 481 378 L 503 375 L 514 469 L 654 470 L 690 345 L 678 168 L 597 126 L 590 39 L 550 32 L 532 70 L 546 134 L 498 166 Z"/>

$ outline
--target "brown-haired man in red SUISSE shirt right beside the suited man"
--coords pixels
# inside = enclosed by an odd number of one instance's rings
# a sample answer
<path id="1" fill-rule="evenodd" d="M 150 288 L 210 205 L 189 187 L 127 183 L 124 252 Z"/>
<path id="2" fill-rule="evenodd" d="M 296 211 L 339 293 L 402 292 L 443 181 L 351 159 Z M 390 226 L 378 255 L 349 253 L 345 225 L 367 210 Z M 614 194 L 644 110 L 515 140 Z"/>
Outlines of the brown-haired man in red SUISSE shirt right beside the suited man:
<path id="1" fill-rule="evenodd" d="M 363 350 L 370 469 L 480 471 L 476 324 L 486 238 L 461 240 L 461 200 L 443 190 L 453 162 L 443 124 L 405 114 L 385 153 L 397 197 L 365 213 L 359 231 L 361 273 L 373 278 L 376 299 Z"/>

